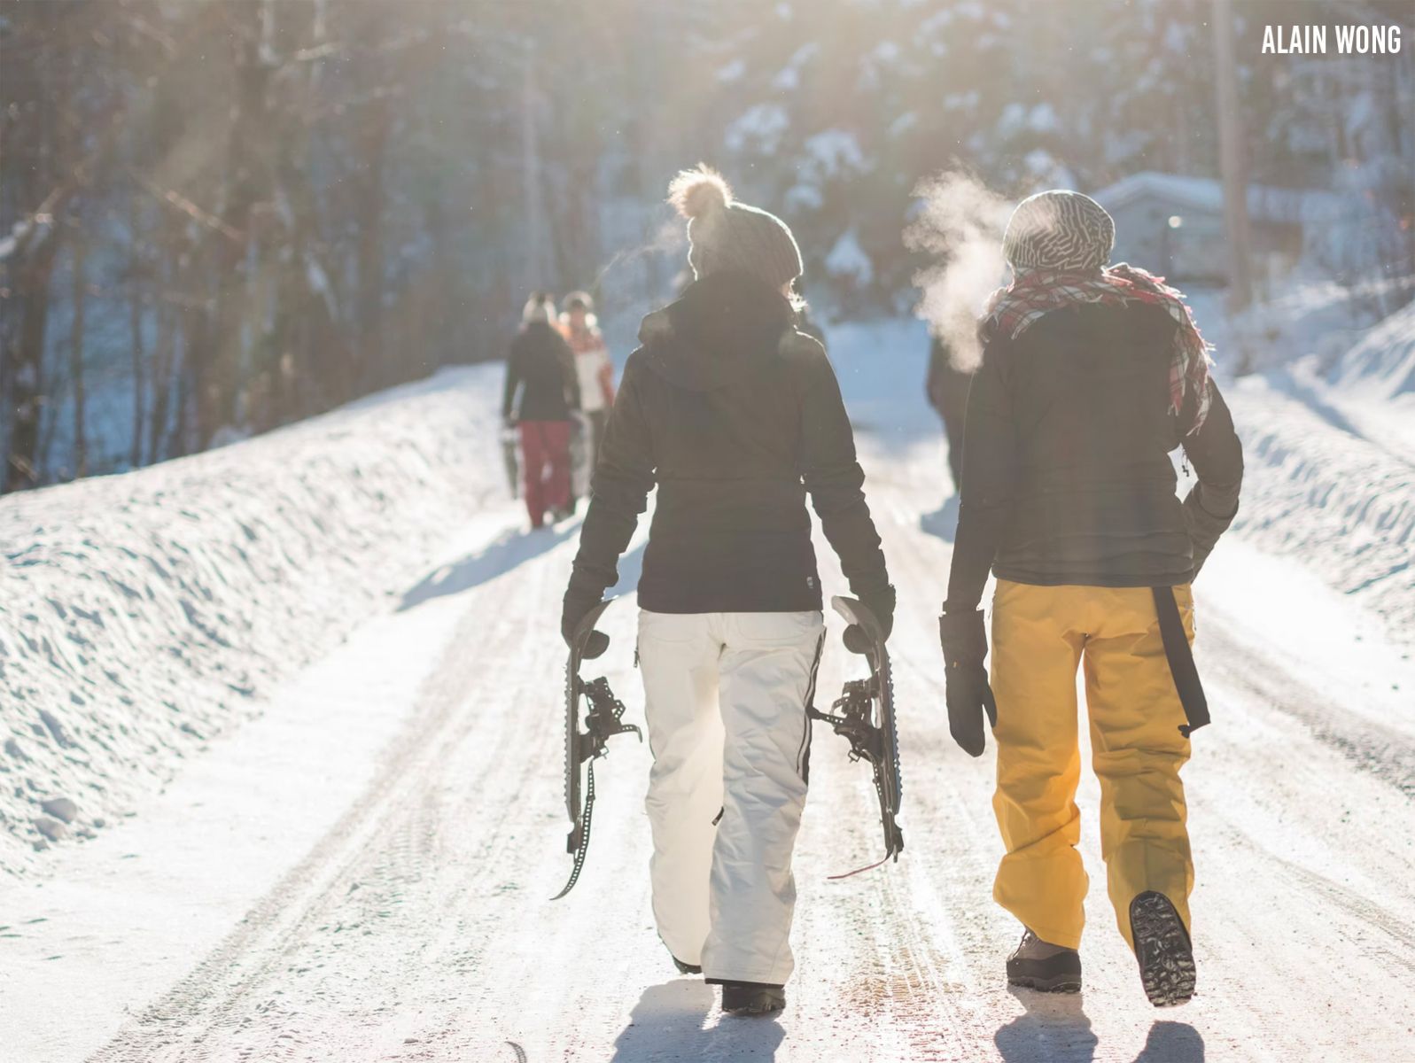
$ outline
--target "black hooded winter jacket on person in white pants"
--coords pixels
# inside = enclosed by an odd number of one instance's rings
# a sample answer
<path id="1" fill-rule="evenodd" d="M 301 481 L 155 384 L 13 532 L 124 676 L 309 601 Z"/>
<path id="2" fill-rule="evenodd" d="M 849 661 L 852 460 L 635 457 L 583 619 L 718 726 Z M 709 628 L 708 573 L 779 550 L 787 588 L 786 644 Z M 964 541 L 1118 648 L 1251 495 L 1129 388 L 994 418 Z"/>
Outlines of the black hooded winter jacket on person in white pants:
<path id="1" fill-rule="evenodd" d="M 658 502 L 638 600 L 657 613 L 821 609 L 807 494 L 856 596 L 891 593 L 855 437 L 819 343 L 740 273 L 649 314 L 594 471 L 569 599 L 617 579 L 647 495 Z"/>

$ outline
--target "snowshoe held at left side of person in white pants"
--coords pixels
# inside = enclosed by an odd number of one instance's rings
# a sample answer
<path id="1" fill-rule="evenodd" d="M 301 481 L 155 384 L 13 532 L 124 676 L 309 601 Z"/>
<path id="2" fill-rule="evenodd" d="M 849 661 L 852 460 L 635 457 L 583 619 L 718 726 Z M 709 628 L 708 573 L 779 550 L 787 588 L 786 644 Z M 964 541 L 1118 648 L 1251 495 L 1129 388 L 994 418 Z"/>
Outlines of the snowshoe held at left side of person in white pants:
<path id="1" fill-rule="evenodd" d="M 570 817 L 570 834 L 565 849 L 574 858 L 570 880 L 552 900 L 559 900 L 580 879 L 584 855 L 590 848 L 590 820 L 594 814 L 594 760 L 604 756 L 607 742 L 614 735 L 633 732 L 644 740 L 642 732 L 633 723 L 624 723 L 624 702 L 614 696 L 608 679 L 603 675 L 586 682 L 580 678 L 580 664 L 591 636 L 599 634 L 594 624 L 608 609 L 608 602 L 600 602 L 584 614 L 574 637 L 570 640 L 570 661 L 565 670 L 565 811 Z M 603 638 L 603 636 L 600 636 Z M 580 730 L 580 705 L 584 711 L 584 730 Z"/>

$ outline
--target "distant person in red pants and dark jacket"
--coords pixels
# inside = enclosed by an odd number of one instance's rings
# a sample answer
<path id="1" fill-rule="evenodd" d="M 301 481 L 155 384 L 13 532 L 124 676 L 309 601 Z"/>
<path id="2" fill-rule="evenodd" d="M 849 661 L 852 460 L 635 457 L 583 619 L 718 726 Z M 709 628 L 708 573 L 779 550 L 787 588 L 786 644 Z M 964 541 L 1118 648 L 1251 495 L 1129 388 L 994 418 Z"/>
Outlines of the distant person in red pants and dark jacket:
<path id="1" fill-rule="evenodd" d="M 570 418 L 580 408 L 574 355 L 555 321 L 550 296 L 536 292 L 507 357 L 501 416 L 521 429 L 522 476 L 531 527 L 570 514 Z M 515 410 L 515 413 L 512 413 Z"/>

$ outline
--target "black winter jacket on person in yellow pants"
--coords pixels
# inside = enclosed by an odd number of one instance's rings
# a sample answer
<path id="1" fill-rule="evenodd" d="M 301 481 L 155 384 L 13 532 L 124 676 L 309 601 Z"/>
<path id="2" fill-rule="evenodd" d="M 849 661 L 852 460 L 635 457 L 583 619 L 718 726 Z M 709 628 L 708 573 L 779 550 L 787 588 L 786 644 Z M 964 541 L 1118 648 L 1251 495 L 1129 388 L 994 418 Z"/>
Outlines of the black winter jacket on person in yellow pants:
<path id="1" fill-rule="evenodd" d="M 1167 412 L 1177 323 L 1138 303 L 1053 310 L 993 338 L 968 398 L 964 484 L 945 610 L 978 607 L 989 566 L 1043 586 L 1193 580 L 1238 510 L 1242 447 L 1210 379 Z M 1199 483 L 1183 502 L 1170 452 Z"/>

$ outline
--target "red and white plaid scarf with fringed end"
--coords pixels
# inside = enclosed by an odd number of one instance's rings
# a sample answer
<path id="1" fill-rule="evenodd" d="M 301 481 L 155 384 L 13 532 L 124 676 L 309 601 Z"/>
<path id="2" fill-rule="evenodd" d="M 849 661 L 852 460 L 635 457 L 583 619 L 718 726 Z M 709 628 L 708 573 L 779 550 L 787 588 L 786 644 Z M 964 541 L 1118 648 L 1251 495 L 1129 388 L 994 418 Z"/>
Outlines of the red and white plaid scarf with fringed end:
<path id="1" fill-rule="evenodd" d="M 1146 303 L 1165 307 L 1179 323 L 1169 364 L 1169 408 L 1170 412 L 1179 413 L 1184 405 L 1184 395 L 1193 388 L 1199 402 L 1189 432 L 1190 435 L 1199 432 L 1208 416 L 1208 351 L 1213 347 L 1199 334 L 1194 314 L 1183 293 L 1169 287 L 1165 277 L 1156 277 L 1124 262 L 1099 270 L 1074 273 L 1016 269 L 1012 285 L 999 287 L 988 300 L 978 334 L 983 343 L 999 334 L 1016 340 L 1043 314 L 1078 303 L 1105 306 Z"/>

